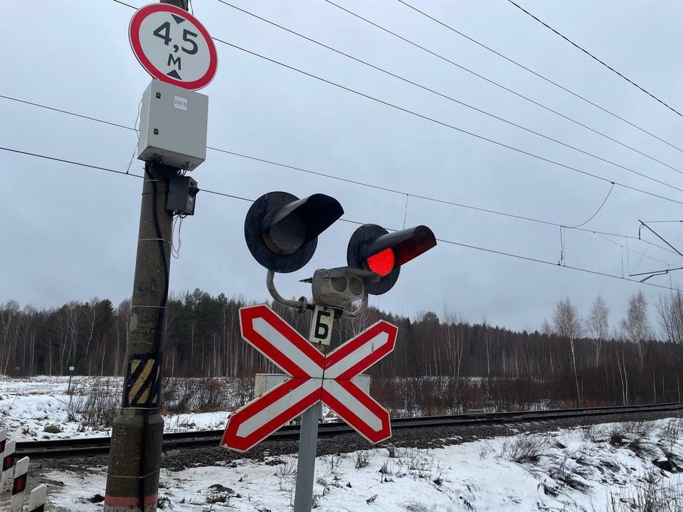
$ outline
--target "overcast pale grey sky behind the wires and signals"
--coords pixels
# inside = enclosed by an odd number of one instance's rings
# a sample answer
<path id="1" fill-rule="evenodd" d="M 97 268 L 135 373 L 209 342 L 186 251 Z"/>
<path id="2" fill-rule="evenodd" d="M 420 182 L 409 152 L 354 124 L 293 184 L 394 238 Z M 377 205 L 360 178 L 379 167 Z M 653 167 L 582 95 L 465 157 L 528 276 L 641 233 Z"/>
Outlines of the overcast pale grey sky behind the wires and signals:
<path id="1" fill-rule="evenodd" d="M 142 6 L 147 2 L 128 0 Z M 561 119 L 408 45 L 323 0 L 243 1 L 235 5 L 410 80 L 524 124 L 622 166 L 683 188 L 677 171 Z M 335 0 L 337 1 L 337 0 Z M 472 38 L 683 147 L 683 119 L 618 78 L 504 0 L 409 0 Z M 346 9 L 400 33 L 487 78 L 548 105 L 643 153 L 683 169 L 683 154 L 576 97 L 488 53 L 396 0 L 338 0 Z M 679 1 L 541 1 L 522 5 L 592 50 L 674 107 L 683 90 Z M 134 11 L 112 0 L 23 0 L 4 5 L 0 31 L 0 94 L 132 126 L 151 79 L 129 48 Z M 212 36 L 281 60 L 328 80 L 396 103 L 485 137 L 517 146 L 608 180 L 683 201 L 683 193 L 485 117 L 424 90 L 220 4 L 195 0 L 194 12 Z M 201 90 L 209 96 L 208 144 L 312 171 L 388 186 L 421 196 L 578 225 L 610 185 L 453 129 L 372 102 L 253 55 L 217 43 L 218 73 Z M 134 132 L 0 98 L 0 145 L 124 170 Z M 95 169 L 0 151 L 4 208 L 0 303 L 58 306 L 132 290 L 142 181 Z M 141 170 L 134 161 L 132 171 Z M 554 226 L 457 208 L 342 183 L 300 171 L 208 151 L 193 174 L 201 188 L 257 198 L 283 190 L 327 193 L 345 218 L 387 228 L 426 224 L 438 238 L 541 260 L 557 261 Z M 249 203 L 200 193 L 186 218 L 171 289 L 265 298 L 265 270 L 243 240 Z M 638 235 L 638 218 L 680 218 L 681 206 L 615 187 L 586 228 Z M 678 224 L 657 224 L 674 245 Z M 278 276 L 287 296 L 309 293 L 298 279 L 318 267 L 345 264 L 356 228 L 339 222 L 319 238 L 312 262 Z M 645 242 L 566 230 L 566 265 L 610 274 L 673 267 L 682 259 Z M 647 240 L 655 240 L 645 235 Z M 645 253 L 642 257 L 640 253 Z M 641 260 L 642 258 L 642 260 Z M 653 277 L 680 284 L 680 272 Z M 554 303 L 568 296 L 587 314 L 603 294 L 616 324 L 628 297 L 642 289 L 654 303 L 662 289 L 440 243 L 402 269 L 391 292 L 371 299 L 381 309 L 413 316 L 445 307 L 464 319 L 512 329 L 536 329 Z"/>

